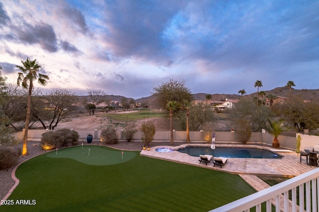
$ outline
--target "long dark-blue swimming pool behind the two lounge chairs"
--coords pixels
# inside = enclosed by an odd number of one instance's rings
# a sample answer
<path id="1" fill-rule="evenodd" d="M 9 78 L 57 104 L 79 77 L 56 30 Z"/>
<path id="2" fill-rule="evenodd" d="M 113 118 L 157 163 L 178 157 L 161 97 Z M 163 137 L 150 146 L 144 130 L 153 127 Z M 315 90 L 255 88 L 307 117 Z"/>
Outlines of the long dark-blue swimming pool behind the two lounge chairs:
<path id="1" fill-rule="evenodd" d="M 214 151 L 210 147 L 187 146 L 177 151 L 186 153 L 190 156 L 199 157 L 200 154 L 210 154 L 214 157 L 237 157 L 237 158 L 272 158 L 281 159 L 278 155 L 267 149 L 244 148 L 244 147 L 216 147 Z"/>

